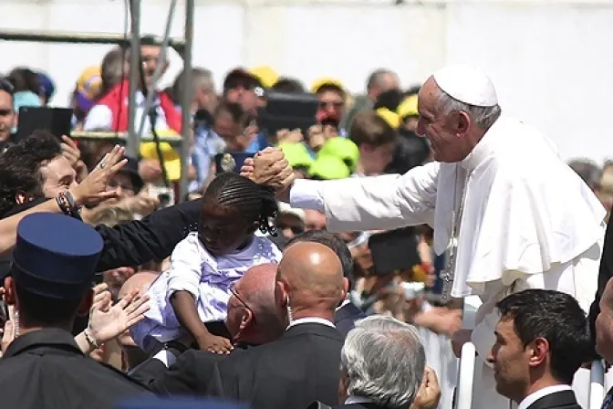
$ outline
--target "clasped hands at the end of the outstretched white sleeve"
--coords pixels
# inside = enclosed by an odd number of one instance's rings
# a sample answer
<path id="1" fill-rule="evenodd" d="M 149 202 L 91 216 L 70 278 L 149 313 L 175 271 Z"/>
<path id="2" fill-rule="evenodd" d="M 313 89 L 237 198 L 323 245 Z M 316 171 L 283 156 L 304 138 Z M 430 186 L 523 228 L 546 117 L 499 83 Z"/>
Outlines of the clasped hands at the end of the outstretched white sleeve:
<path id="1" fill-rule="evenodd" d="M 245 160 L 241 175 L 256 184 L 271 186 L 277 193 L 284 192 L 296 178 L 283 151 L 277 148 L 266 148 L 256 153 L 253 159 Z"/>

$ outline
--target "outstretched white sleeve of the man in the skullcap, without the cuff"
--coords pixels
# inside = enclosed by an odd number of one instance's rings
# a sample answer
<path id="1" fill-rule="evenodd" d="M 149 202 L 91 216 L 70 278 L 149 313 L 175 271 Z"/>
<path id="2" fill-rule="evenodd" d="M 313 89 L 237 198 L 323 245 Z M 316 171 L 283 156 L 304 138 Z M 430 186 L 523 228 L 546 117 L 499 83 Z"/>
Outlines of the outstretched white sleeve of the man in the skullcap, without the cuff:
<path id="1" fill-rule="evenodd" d="M 403 175 L 356 177 L 317 184 L 330 231 L 393 229 L 431 224 L 439 163 Z"/>

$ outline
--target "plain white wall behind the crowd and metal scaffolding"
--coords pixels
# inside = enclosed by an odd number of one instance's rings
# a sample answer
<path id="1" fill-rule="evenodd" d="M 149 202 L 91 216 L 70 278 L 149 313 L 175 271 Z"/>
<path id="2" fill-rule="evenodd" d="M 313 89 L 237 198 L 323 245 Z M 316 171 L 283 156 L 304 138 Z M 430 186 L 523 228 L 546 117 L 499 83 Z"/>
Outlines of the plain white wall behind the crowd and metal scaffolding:
<path id="1" fill-rule="evenodd" d="M 180 1 L 182 3 L 182 1 Z M 450 62 L 485 68 L 503 109 L 533 122 L 564 157 L 613 157 L 613 2 L 442 0 L 196 1 L 194 63 L 221 82 L 237 65 L 270 65 L 307 84 L 321 76 L 363 91 L 373 68 L 419 83 Z M 116 32 L 123 0 L 0 0 L 4 28 Z M 163 33 L 169 0 L 142 0 L 141 32 Z M 182 36 L 184 8 L 171 30 Z M 1 29 L 0 29 L 1 30 Z M 0 41 L 0 72 L 43 68 L 65 103 L 83 68 L 105 46 Z M 529 147 L 526 147 L 529 149 Z"/>

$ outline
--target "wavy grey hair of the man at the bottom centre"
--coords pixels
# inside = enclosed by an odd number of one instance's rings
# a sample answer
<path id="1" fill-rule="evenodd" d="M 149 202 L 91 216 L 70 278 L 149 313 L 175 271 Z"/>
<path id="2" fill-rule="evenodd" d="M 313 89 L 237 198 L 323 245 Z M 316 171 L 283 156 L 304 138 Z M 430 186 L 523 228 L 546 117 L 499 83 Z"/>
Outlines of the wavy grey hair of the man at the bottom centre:
<path id="1" fill-rule="evenodd" d="M 348 394 L 391 409 L 406 409 L 413 403 L 425 364 L 417 329 L 381 315 L 358 320 L 340 353 Z"/>

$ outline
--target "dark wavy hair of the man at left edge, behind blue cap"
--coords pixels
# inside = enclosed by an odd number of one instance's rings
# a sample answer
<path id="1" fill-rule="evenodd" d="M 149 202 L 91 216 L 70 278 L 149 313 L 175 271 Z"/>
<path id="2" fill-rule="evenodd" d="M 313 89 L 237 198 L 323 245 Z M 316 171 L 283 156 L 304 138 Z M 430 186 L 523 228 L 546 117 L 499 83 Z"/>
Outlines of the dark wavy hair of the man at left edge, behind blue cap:
<path id="1" fill-rule="evenodd" d="M 61 154 L 55 136 L 47 131 L 35 131 L 0 155 L 0 216 L 16 206 L 18 193 L 43 196 L 45 181 L 40 167 Z"/>

